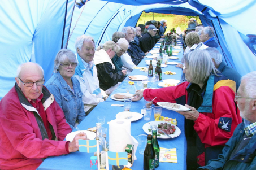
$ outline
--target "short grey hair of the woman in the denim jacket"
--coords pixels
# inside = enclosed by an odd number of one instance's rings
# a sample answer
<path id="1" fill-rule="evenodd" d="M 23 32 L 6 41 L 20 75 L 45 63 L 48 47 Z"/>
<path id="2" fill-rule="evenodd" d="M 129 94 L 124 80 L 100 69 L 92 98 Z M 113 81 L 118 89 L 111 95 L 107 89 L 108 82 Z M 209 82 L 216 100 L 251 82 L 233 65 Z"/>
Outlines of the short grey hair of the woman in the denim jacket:
<path id="1" fill-rule="evenodd" d="M 72 63 L 78 63 L 76 55 L 70 49 L 61 49 L 59 50 L 56 58 L 54 60 L 53 71 L 56 73 L 59 71 L 59 66 L 61 63 L 64 63 L 66 60 Z"/>

